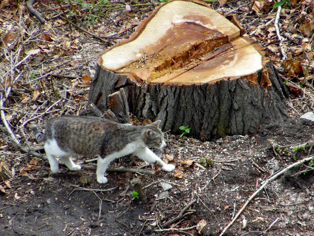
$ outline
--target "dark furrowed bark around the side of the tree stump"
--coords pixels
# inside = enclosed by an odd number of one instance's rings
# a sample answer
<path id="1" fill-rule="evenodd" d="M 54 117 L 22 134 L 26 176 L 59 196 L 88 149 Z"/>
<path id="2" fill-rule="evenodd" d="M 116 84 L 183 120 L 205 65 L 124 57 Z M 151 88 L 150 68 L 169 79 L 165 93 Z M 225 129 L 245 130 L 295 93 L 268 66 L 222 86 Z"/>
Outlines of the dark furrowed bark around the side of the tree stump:
<path id="1" fill-rule="evenodd" d="M 107 96 L 124 87 L 130 112 L 143 119 L 160 119 L 163 130 L 180 133 L 179 126 L 189 125 L 192 136 L 201 139 L 254 134 L 263 119 L 280 122 L 287 117 L 284 98 L 288 92 L 271 62 L 265 70 L 271 85 L 263 84 L 263 73 L 257 78 L 260 85 L 250 85 L 241 77 L 214 84 L 161 85 L 140 84 L 97 66 L 89 102 L 105 110 Z"/>

